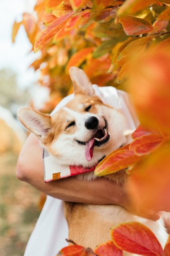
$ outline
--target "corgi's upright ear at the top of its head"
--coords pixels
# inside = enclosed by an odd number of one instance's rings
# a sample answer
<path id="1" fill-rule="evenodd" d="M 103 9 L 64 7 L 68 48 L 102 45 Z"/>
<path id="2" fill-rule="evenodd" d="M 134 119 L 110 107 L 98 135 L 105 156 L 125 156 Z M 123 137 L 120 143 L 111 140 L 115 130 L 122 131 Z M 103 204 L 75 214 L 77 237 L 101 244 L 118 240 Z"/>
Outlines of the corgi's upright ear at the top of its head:
<path id="1" fill-rule="evenodd" d="M 70 67 L 69 69 L 70 77 L 72 79 L 72 84 L 74 86 L 74 94 L 83 94 L 94 96 L 94 90 L 92 84 L 85 74 L 85 72 L 75 66 Z"/>

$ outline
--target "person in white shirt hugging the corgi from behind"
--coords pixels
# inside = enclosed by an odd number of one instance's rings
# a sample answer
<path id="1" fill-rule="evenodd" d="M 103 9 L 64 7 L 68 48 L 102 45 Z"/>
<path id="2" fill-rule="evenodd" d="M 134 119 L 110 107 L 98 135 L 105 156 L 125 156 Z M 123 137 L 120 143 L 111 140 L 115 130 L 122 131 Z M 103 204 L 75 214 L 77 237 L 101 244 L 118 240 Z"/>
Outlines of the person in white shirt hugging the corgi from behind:
<path id="1" fill-rule="evenodd" d="M 104 103 L 120 109 L 127 119 L 127 129 L 134 130 L 139 121 L 127 93 L 113 87 L 93 88 Z M 54 111 L 64 106 L 73 95 L 65 97 Z M 30 134 L 23 146 L 17 162 L 17 177 L 47 194 L 47 200 L 35 225 L 26 247 L 24 256 L 55 256 L 59 250 L 68 245 L 68 226 L 64 219 L 61 200 L 76 203 L 119 204 L 127 210 L 157 220 L 158 214 L 142 212 L 136 209 L 128 198 L 123 186 L 98 178 L 91 182 L 69 177 L 58 181 L 44 182 L 43 148 L 34 134 Z"/>

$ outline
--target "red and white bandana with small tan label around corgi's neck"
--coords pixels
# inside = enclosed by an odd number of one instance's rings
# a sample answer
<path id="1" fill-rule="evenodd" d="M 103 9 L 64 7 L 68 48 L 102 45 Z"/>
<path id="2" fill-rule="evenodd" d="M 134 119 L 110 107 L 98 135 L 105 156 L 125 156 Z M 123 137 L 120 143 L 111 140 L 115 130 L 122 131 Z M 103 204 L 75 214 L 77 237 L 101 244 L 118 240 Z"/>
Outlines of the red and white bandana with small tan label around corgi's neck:
<path id="1" fill-rule="evenodd" d="M 92 168 L 83 168 L 76 165 L 60 165 L 57 163 L 57 159 L 49 154 L 47 150 L 43 150 L 43 165 L 44 165 L 44 181 L 56 181 L 62 178 L 75 176 L 85 172 L 93 172 L 96 166 Z"/>

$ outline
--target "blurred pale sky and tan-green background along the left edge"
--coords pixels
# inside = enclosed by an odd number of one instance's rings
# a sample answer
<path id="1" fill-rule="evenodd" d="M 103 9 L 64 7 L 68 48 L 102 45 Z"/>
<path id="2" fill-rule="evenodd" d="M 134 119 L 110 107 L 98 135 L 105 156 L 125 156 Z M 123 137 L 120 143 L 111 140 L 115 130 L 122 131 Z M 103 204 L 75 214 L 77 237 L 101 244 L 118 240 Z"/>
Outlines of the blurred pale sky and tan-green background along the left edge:
<path id="1" fill-rule="evenodd" d="M 36 83 L 38 71 L 29 68 L 37 54 L 21 27 L 12 43 L 13 22 L 32 12 L 35 0 L 5 0 L 0 8 L 0 256 L 23 255 L 40 209 L 37 190 L 16 178 L 16 163 L 26 131 L 17 121 L 17 109 L 30 99 L 43 106 L 47 89 Z"/>

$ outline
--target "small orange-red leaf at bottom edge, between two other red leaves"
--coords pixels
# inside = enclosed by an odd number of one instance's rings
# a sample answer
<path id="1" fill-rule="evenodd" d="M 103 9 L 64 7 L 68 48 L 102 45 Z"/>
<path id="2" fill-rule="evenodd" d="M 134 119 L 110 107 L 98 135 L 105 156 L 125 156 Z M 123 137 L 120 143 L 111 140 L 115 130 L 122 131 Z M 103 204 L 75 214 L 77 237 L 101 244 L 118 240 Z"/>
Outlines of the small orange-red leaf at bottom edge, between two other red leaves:
<path id="1" fill-rule="evenodd" d="M 98 256 L 123 256 L 123 251 L 116 247 L 112 241 L 99 244 L 94 249 L 94 252 L 98 254 Z"/>

